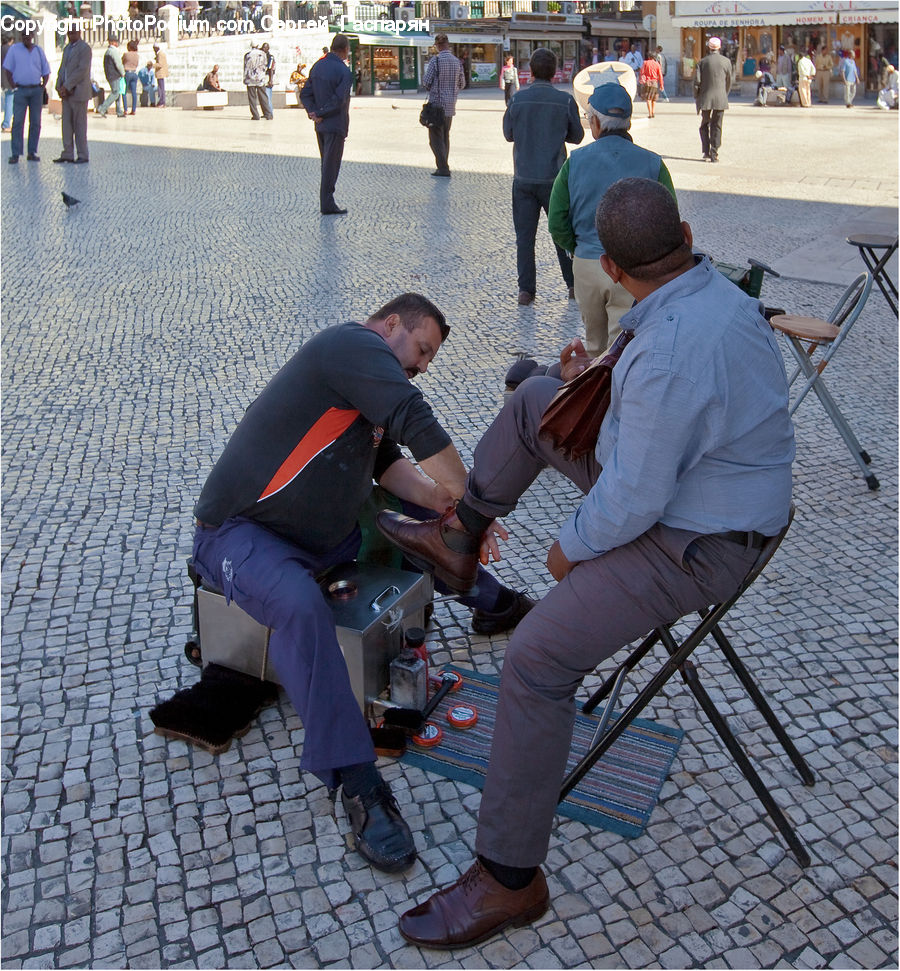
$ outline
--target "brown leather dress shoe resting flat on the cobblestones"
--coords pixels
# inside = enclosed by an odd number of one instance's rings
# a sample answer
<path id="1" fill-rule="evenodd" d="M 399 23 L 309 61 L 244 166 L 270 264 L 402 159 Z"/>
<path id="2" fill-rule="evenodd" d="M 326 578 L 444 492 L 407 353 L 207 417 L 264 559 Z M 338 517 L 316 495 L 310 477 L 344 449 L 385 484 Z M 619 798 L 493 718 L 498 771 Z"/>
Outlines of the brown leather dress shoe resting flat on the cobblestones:
<path id="1" fill-rule="evenodd" d="M 449 950 L 479 944 L 504 927 L 523 927 L 550 906 L 542 870 L 524 890 L 507 890 L 479 860 L 452 886 L 407 911 L 400 933 L 412 944 Z"/>

